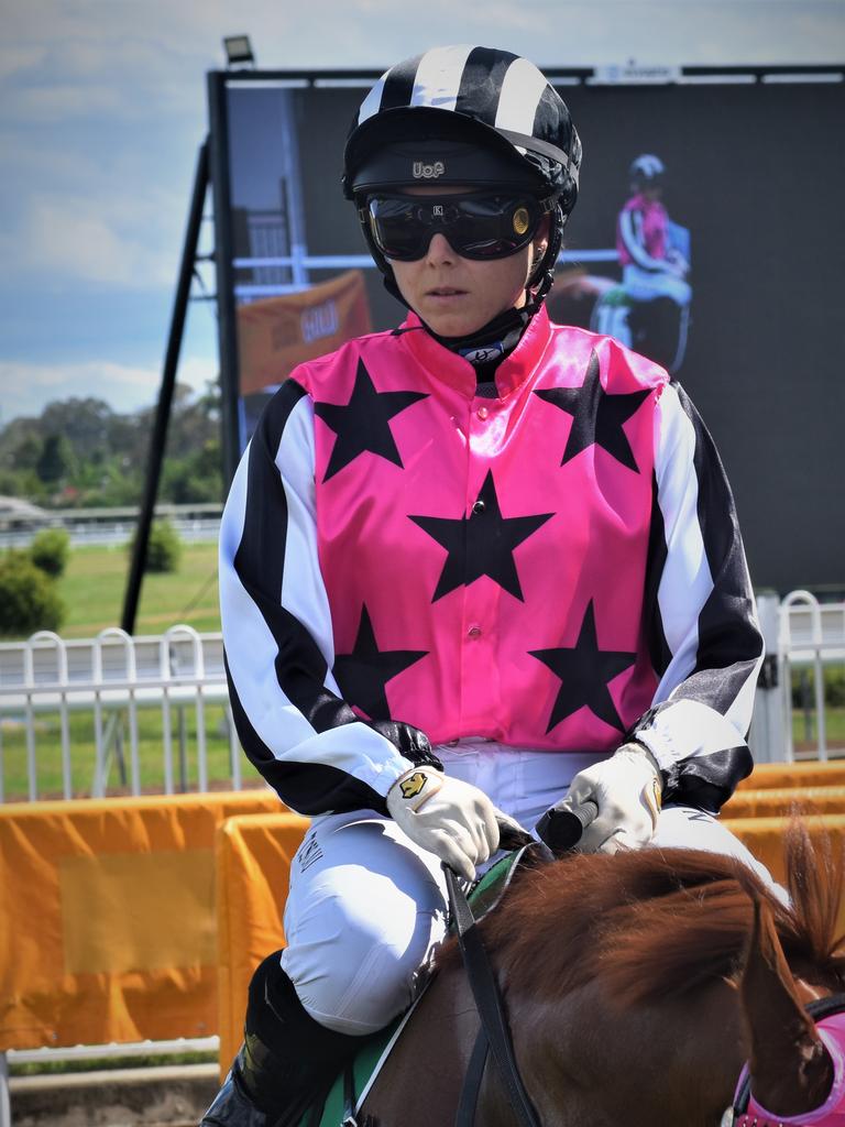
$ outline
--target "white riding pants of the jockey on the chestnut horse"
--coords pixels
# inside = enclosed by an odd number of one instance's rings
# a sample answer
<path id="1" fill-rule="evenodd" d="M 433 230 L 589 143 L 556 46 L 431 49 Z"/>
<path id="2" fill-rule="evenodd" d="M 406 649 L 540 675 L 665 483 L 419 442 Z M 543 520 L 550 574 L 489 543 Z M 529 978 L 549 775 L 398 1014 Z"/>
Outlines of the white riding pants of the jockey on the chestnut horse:
<path id="1" fill-rule="evenodd" d="M 480 787 L 526 829 L 579 771 L 606 757 L 482 739 L 435 751 L 448 774 Z M 662 810 L 652 844 L 737 857 L 773 884 L 746 846 L 701 810 Z M 343 1033 L 371 1033 L 410 1004 L 420 968 L 445 935 L 446 916 L 439 860 L 392 819 L 373 810 L 322 815 L 291 867 L 282 966 L 314 1020 Z"/>

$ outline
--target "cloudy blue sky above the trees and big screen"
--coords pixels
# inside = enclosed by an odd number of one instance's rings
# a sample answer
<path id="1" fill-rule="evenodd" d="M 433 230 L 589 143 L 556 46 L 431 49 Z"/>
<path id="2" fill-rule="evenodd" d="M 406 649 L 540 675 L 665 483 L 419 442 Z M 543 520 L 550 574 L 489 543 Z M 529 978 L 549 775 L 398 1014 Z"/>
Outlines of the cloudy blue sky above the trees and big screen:
<path id="1" fill-rule="evenodd" d="M 71 396 L 154 402 L 224 35 L 248 33 L 265 68 L 445 42 L 541 66 L 845 62 L 845 0 L 0 0 L 0 424 Z M 194 303 L 179 379 L 215 373 Z"/>

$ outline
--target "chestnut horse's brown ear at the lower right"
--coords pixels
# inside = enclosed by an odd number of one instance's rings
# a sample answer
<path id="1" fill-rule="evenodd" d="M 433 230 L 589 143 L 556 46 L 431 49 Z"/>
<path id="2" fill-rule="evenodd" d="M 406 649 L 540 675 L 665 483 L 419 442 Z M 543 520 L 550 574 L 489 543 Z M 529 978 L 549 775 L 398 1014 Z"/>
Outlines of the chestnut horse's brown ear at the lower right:
<path id="1" fill-rule="evenodd" d="M 757 899 L 740 992 L 755 1099 L 780 1116 L 815 1111 L 833 1086 L 833 1062 L 798 996 L 772 911 Z"/>

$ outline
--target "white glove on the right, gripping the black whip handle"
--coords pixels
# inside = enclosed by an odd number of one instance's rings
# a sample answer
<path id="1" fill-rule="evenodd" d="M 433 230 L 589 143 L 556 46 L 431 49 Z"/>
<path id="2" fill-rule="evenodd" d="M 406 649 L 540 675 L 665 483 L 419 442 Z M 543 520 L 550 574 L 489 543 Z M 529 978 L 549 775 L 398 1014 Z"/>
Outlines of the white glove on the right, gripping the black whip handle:
<path id="1" fill-rule="evenodd" d="M 582 853 L 616 853 L 651 841 L 661 792 L 660 772 L 651 752 L 641 744 L 623 744 L 608 760 L 579 771 L 560 806 L 582 814 L 589 823 L 578 843 Z"/>

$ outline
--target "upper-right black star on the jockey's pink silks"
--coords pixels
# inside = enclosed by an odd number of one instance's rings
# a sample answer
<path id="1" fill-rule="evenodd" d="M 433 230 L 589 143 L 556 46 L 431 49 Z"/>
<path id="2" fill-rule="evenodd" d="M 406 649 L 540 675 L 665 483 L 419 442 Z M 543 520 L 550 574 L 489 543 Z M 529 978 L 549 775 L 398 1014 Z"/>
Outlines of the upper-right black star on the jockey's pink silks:
<path id="1" fill-rule="evenodd" d="M 592 353 L 580 388 L 549 388 L 534 394 L 572 416 L 572 429 L 561 465 L 595 444 L 634 473 L 640 472 L 622 424 L 631 418 L 643 399 L 648 399 L 651 394 L 649 389 L 622 394 L 606 392 L 598 378 L 598 357 Z"/>

